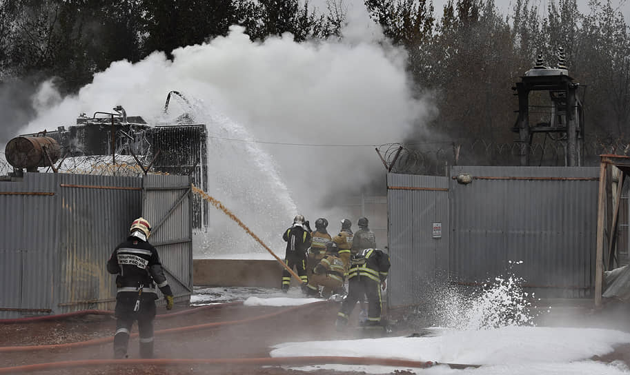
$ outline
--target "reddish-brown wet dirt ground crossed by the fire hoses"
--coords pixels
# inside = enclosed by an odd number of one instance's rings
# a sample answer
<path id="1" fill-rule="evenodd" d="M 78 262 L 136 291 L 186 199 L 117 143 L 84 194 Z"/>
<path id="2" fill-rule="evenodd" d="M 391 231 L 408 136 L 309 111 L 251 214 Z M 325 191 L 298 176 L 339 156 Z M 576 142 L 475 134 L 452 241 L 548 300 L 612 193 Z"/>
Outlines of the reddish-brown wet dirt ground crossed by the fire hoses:
<path id="1" fill-rule="evenodd" d="M 190 307 L 176 306 L 173 312 Z M 348 327 L 339 331 L 335 318 L 339 304 L 322 301 L 316 305 L 302 307 L 248 307 L 244 305 L 224 305 L 221 308 L 195 310 L 183 314 L 155 320 L 155 330 L 175 327 L 202 325 L 206 323 L 241 321 L 237 324 L 201 327 L 185 332 L 171 332 L 155 335 L 155 358 L 268 358 L 272 346 L 287 341 L 313 341 L 339 338 L 361 338 L 374 336 L 359 327 Z M 358 310 L 358 309 L 357 309 Z M 166 314 L 162 307 L 158 314 Z M 397 321 L 392 335 L 402 336 L 417 333 L 422 324 L 415 324 L 404 311 L 391 312 L 390 317 Z M 595 316 L 595 318 L 597 318 Z M 623 327 L 626 330 L 626 327 Z M 86 315 L 66 318 L 62 321 L 42 321 L 39 323 L 19 323 L 0 325 L 0 347 L 23 345 L 55 345 L 75 343 L 95 338 L 111 337 L 115 330 L 115 318 L 108 315 Z M 134 325 L 134 332 L 137 326 Z M 379 333 L 384 336 L 386 333 Z M 313 355 L 317 355 L 313 353 Z M 343 355 L 343 354 L 339 354 Z M 111 359 L 112 343 L 84 345 L 74 348 L 50 348 L 21 352 L 0 352 L 0 374 L 2 367 L 52 363 L 59 361 L 81 361 Z M 131 338 L 129 358 L 139 358 L 137 338 Z M 615 352 L 593 358 L 598 361 L 624 361 L 630 365 L 630 344 L 618 347 Z M 45 369 L 33 374 L 304 374 L 286 367 L 261 365 L 141 365 L 132 364 L 99 365 Z M 396 374 L 406 374 L 397 371 Z M 317 374 L 339 375 L 348 372 L 320 370 Z M 354 373 L 355 374 L 355 373 Z"/>

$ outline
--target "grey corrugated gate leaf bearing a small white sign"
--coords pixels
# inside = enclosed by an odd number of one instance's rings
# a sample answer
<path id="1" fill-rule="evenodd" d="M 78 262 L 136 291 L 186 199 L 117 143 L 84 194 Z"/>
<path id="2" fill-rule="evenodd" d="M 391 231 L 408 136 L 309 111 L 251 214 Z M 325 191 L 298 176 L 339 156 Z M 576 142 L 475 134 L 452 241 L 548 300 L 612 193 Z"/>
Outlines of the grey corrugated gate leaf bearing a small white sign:
<path id="1" fill-rule="evenodd" d="M 408 305 L 449 273 L 449 179 L 387 175 L 389 304 Z"/>

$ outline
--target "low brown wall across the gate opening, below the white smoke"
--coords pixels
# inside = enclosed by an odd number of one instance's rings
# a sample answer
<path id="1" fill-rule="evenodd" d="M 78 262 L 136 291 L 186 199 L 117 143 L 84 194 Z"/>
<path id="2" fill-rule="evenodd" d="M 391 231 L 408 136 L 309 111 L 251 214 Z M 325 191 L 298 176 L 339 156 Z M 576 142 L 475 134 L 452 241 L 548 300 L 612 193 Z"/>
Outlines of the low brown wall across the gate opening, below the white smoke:
<path id="1" fill-rule="evenodd" d="M 193 259 L 193 283 L 208 287 L 279 288 L 282 265 L 273 260 Z M 293 278 L 291 286 L 297 286 Z"/>

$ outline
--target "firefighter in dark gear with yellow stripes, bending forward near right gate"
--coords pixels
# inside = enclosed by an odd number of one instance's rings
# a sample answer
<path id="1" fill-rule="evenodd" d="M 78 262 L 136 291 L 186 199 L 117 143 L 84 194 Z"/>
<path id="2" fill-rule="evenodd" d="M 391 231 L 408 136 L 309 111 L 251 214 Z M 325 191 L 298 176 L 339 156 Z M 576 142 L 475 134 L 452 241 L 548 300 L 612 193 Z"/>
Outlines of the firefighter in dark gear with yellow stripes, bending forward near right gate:
<path id="1" fill-rule="evenodd" d="M 386 286 L 387 273 L 391 266 L 389 255 L 378 249 L 365 249 L 353 254 L 348 271 L 348 296 L 337 314 L 337 325 L 347 325 L 357 301 L 368 299 L 366 327 L 381 325 L 381 288 Z"/>

